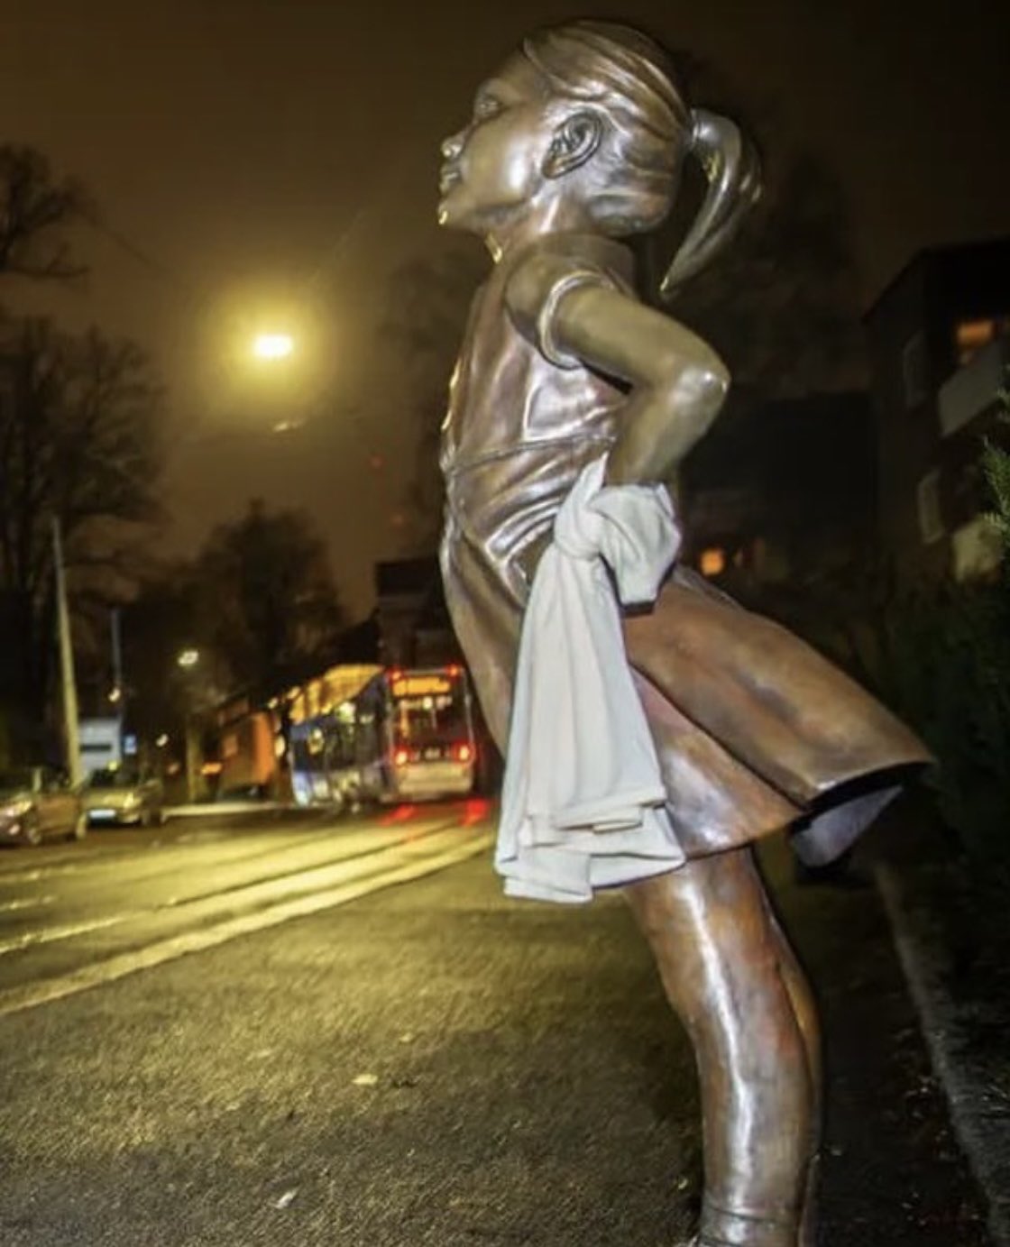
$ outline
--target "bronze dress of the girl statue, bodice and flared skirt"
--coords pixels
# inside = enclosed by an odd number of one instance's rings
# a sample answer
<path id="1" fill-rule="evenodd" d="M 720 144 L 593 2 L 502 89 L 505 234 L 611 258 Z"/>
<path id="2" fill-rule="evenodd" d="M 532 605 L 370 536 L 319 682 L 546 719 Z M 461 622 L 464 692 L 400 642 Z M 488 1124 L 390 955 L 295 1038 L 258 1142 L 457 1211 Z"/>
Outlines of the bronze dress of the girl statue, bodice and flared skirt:
<path id="1" fill-rule="evenodd" d="M 556 234 L 535 246 L 565 257 L 579 281 L 631 289 L 631 253 L 618 243 Z M 530 253 L 499 263 L 474 299 L 441 448 L 446 601 L 503 751 L 529 591 L 521 556 L 613 443 L 626 398 L 560 358 L 549 324 L 534 342 L 512 323 L 505 286 Z M 929 762 L 858 685 L 688 569 L 675 567 L 651 611 L 626 617 L 625 641 L 687 857 L 791 827 L 804 860 L 830 860 L 902 773 Z"/>

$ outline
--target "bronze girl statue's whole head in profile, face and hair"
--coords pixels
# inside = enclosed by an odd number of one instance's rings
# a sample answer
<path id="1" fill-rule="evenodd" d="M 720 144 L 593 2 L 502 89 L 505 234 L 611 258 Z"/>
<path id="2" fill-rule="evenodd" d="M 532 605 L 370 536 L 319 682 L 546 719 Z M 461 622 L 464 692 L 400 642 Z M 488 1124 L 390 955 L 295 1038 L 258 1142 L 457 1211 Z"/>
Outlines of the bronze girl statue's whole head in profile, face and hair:
<path id="1" fill-rule="evenodd" d="M 638 31 L 597 21 L 542 30 L 480 86 L 470 122 L 443 143 L 439 221 L 481 236 L 532 218 L 641 233 L 673 206 L 688 153 L 709 177 L 692 244 L 707 242 L 707 258 L 713 229 L 726 232 L 734 201 L 757 190 L 737 127 L 692 111 L 668 55 Z"/>

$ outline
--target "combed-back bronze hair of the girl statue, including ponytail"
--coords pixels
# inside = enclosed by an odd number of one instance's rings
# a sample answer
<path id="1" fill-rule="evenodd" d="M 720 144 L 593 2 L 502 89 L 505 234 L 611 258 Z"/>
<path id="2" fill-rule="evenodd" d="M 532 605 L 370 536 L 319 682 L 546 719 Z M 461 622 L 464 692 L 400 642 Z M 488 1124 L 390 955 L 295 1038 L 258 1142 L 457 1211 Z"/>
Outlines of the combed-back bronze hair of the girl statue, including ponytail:
<path id="1" fill-rule="evenodd" d="M 663 279 L 670 294 L 722 248 L 757 198 L 753 147 L 728 117 L 692 110 L 671 57 L 630 26 L 575 21 L 529 36 L 522 51 L 552 95 L 601 120 L 590 208 L 608 234 L 655 229 L 673 206 L 685 157 L 701 161 L 708 192 Z"/>

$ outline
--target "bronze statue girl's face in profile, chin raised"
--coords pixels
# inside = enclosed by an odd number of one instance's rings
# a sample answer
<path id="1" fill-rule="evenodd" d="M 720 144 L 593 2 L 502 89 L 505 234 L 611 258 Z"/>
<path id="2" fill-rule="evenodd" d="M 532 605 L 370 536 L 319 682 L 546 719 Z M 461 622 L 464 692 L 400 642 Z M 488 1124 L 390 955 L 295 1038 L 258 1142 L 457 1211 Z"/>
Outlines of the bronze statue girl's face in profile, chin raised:
<path id="1" fill-rule="evenodd" d="M 534 201 L 555 132 L 550 104 L 542 79 L 519 54 L 483 84 L 470 123 L 441 145 L 440 224 L 484 234 Z"/>

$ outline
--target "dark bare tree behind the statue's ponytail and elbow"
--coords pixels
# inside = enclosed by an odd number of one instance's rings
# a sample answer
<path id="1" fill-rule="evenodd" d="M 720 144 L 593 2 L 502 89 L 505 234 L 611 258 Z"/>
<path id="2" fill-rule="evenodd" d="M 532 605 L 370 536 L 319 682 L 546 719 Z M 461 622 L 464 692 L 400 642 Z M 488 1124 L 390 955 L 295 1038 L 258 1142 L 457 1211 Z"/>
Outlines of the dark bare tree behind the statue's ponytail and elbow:
<path id="1" fill-rule="evenodd" d="M 676 293 L 670 312 L 724 355 L 738 410 L 862 387 L 867 365 L 853 231 L 835 171 L 820 153 L 786 138 L 777 101 L 742 97 L 690 52 L 676 60 L 692 102 L 734 117 L 756 143 L 763 193 L 741 233 Z M 647 292 L 658 288 L 702 190 L 701 171 L 688 161 L 677 207 L 645 248 Z"/>

